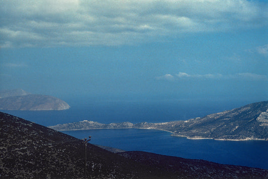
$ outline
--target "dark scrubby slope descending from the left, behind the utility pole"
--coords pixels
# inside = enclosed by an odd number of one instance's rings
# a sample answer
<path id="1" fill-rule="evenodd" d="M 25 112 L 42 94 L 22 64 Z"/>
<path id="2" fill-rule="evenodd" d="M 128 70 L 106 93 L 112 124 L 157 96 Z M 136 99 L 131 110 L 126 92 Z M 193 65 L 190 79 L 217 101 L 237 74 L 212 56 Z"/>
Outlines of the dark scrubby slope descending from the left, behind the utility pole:
<path id="1" fill-rule="evenodd" d="M 81 140 L 2 112 L 0 130 L 1 177 L 83 177 L 84 144 Z M 158 174 L 153 168 L 87 145 L 87 176 L 146 177 L 147 170 Z"/>

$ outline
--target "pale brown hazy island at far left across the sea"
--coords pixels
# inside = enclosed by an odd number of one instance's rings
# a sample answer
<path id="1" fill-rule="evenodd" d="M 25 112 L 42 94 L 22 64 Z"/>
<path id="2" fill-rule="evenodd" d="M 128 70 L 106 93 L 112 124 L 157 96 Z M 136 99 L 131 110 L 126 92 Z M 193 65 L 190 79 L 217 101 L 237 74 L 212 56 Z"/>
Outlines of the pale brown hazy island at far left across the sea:
<path id="1" fill-rule="evenodd" d="M 31 94 L 23 89 L 0 92 L 2 110 L 64 110 L 70 106 L 63 100 L 41 94 Z"/>

